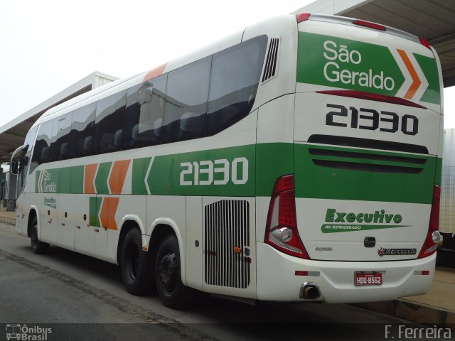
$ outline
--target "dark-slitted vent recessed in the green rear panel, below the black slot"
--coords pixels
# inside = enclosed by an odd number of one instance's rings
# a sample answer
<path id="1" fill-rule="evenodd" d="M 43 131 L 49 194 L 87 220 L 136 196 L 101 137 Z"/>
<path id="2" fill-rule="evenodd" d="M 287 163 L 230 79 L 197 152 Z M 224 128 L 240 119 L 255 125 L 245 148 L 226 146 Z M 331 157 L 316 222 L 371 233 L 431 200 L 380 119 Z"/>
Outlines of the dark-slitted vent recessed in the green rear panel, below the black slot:
<path id="1" fill-rule="evenodd" d="M 427 160 L 390 154 L 309 148 L 316 166 L 375 173 L 421 173 Z"/>

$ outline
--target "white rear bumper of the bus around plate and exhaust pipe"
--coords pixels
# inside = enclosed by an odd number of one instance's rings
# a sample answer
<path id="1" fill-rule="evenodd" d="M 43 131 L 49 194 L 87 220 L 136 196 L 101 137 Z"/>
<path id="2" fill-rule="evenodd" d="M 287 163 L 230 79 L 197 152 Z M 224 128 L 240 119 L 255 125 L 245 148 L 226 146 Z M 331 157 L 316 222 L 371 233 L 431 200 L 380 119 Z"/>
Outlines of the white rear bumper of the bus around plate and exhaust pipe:
<path id="1" fill-rule="evenodd" d="M 362 303 L 427 293 L 436 254 L 407 261 L 313 261 L 288 256 L 257 243 L 257 298 L 262 301 Z M 381 272 L 382 285 L 355 286 L 355 272 Z M 429 271 L 429 272 L 427 272 Z M 301 298 L 304 283 L 319 287 L 321 297 Z"/>

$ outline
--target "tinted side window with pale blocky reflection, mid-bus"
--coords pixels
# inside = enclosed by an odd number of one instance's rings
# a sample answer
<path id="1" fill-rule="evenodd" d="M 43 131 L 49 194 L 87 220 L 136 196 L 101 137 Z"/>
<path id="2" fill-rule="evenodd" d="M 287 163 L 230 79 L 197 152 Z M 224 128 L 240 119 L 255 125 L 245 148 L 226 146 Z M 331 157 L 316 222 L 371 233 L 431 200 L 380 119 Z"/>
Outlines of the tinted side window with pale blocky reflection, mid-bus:
<path id="1" fill-rule="evenodd" d="M 151 146 L 161 142 L 167 75 L 128 92 L 125 148 Z M 133 102 L 136 100 L 136 102 Z"/>

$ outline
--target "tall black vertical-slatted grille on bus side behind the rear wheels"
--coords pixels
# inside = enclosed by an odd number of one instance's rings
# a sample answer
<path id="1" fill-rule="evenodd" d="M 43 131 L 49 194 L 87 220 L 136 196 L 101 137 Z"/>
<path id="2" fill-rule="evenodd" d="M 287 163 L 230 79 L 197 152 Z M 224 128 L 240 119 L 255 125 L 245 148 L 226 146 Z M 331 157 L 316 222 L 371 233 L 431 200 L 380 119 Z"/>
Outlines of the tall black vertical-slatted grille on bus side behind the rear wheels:
<path id="1" fill-rule="evenodd" d="M 205 206 L 205 283 L 247 288 L 250 285 L 250 204 L 220 200 Z M 248 251 L 249 252 L 249 251 Z"/>

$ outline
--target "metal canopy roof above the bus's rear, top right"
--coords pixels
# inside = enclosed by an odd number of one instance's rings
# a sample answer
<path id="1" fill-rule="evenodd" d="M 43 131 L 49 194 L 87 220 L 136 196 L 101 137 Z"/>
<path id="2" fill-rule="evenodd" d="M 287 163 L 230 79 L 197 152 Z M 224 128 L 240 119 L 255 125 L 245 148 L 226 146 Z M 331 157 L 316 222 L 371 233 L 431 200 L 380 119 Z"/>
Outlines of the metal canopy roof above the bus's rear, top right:
<path id="1" fill-rule="evenodd" d="M 318 0 L 294 13 L 358 18 L 425 38 L 439 54 L 444 87 L 455 85 L 454 0 Z"/>

